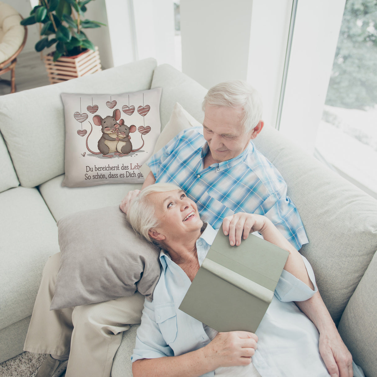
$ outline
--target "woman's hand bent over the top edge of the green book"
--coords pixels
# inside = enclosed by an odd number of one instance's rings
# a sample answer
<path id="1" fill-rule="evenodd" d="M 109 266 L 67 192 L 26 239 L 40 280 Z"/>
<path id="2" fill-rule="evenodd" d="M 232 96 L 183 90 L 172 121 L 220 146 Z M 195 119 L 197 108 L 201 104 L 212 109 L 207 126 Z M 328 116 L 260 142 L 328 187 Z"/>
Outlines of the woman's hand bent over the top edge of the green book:
<path id="1" fill-rule="evenodd" d="M 262 215 L 238 212 L 234 215 L 227 216 L 222 222 L 222 231 L 225 236 L 229 234 L 229 242 L 231 246 L 239 246 L 241 238 L 247 239 L 249 233 L 262 232 L 269 220 Z"/>

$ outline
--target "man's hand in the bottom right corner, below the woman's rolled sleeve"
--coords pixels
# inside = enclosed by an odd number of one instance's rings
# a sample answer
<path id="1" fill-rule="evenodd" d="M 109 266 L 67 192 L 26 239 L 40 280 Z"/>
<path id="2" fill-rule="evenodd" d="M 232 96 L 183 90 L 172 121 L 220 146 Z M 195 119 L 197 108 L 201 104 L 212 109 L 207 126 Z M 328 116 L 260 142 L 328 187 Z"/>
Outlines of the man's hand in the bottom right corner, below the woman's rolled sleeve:
<path id="1" fill-rule="evenodd" d="M 331 377 L 353 377 L 352 355 L 338 331 L 319 335 L 319 352 Z"/>

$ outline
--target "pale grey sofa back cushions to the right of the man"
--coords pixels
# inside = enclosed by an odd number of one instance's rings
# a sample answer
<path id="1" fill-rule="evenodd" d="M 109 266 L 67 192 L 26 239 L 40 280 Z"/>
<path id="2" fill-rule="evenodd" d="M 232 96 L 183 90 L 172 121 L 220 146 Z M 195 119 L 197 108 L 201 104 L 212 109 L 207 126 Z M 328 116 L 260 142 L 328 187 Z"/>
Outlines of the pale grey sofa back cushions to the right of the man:
<path id="1" fill-rule="evenodd" d="M 254 140 L 280 171 L 309 243 L 300 252 L 339 333 L 366 375 L 377 371 L 377 200 L 265 127 Z M 372 260 L 373 259 L 373 260 Z M 372 261 L 372 262 L 371 262 Z"/>

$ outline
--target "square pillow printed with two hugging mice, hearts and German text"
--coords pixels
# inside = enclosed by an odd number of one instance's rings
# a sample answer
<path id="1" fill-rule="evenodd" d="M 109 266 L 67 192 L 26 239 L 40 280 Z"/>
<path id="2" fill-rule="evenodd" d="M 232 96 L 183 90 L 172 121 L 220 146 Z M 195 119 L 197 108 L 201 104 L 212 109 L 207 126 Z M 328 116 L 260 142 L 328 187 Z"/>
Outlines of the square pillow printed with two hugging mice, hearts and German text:
<path id="1" fill-rule="evenodd" d="M 66 124 L 62 185 L 143 182 L 140 167 L 152 155 L 161 132 L 161 90 L 62 93 Z"/>

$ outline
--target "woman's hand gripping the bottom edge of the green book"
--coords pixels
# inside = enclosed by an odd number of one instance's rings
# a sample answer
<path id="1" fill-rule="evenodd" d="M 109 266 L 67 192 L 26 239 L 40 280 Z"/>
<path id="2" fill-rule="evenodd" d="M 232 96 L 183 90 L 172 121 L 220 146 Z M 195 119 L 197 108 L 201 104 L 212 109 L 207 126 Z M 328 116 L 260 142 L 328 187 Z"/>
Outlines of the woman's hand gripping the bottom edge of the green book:
<path id="1" fill-rule="evenodd" d="M 218 333 L 203 351 L 214 369 L 219 366 L 248 365 L 257 349 L 258 337 L 247 331 Z"/>

